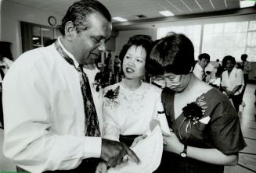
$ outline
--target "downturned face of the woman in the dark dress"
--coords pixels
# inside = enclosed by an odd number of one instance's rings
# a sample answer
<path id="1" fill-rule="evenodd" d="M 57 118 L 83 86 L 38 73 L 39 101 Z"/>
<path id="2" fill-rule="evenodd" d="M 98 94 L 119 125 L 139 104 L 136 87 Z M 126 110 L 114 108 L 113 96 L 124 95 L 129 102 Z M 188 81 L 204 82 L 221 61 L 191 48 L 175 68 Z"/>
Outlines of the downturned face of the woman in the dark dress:
<path id="1" fill-rule="evenodd" d="M 190 81 L 190 75 L 175 75 L 174 73 L 168 72 L 164 73 L 164 75 L 153 76 L 152 80 L 162 88 L 168 87 L 171 90 L 181 92 L 187 87 Z"/>

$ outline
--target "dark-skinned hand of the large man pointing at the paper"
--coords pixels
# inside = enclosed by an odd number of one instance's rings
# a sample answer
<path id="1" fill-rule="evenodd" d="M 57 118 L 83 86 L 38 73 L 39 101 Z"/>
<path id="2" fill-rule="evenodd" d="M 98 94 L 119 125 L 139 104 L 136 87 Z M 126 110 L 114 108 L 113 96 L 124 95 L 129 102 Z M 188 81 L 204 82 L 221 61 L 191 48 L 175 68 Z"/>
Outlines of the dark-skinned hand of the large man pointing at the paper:
<path id="1" fill-rule="evenodd" d="M 139 164 L 139 157 L 124 143 L 103 139 L 100 157 L 107 162 L 109 167 L 121 164 L 125 155 L 132 157 L 132 160 Z"/>

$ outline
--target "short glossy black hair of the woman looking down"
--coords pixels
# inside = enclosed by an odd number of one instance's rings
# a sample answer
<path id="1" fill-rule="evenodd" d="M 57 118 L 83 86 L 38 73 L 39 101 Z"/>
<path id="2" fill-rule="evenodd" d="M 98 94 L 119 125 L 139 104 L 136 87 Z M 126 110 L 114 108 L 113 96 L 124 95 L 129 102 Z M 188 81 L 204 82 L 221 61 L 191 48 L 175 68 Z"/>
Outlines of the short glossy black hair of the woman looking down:
<path id="1" fill-rule="evenodd" d="M 195 64 L 193 43 L 184 34 L 169 33 L 154 41 L 150 58 L 146 62 L 146 72 L 151 76 L 164 72 L 188 74 Z"/>

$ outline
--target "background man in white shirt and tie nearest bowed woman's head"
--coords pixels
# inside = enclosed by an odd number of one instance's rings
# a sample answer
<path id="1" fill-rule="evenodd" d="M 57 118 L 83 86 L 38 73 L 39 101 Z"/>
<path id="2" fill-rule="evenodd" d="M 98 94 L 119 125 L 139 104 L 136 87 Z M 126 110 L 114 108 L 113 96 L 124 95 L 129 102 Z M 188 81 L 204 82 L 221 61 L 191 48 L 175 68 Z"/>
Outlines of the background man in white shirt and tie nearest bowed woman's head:
<path id="1" fill-rule="evenodd" d="M 210 62 L 210 55 L 206 53 L 200 54 L 198 56 L 198 62 L 193 69 L 193 73 L 195 74 L 195 76 L 197 76 L 198 79 L 203 80 L 204 82 L 206 82 L 206 79 L 207 79 L 207 74 L 204 71 L 204 69 L 209 62 Z"/>

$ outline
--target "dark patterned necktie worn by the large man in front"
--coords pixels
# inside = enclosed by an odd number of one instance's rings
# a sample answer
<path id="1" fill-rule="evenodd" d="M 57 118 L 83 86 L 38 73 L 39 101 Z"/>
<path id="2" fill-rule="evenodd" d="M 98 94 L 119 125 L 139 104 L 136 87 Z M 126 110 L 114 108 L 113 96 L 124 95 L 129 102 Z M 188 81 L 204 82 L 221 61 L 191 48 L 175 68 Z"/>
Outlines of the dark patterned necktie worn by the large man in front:
<path id="1" fill-rule="evenodd" d="M 70 64 L 74 65 L 74 61 L 70 58 L 60 47 L 59 42 L 55 42 L 55 47 L 59 54 Z M 75 68 L 76 69 L 76 68 Z M 84 101 L 85 108 L 85 136 L 100 136 L 99 120 L 96 112 L 96 107 L 92 97 L 92 91 L 88 77 L 83 70 L 83 65 L 78 66 L 78 73 L 80 76 L 81 93 Z"/>

